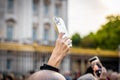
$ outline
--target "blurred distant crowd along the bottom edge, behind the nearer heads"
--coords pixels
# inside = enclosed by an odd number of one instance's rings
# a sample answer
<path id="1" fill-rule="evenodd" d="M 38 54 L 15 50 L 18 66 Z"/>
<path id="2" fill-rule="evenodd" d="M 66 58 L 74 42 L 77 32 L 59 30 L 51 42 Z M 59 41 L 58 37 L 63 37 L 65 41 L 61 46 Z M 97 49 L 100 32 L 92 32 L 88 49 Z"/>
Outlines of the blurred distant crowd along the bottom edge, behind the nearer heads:
<path id="1" fill-rule="evenodd" d="M 31 73 L 26 75 L 15 75 L 13 73 L 8 73 L 6 75 L 0 73 L 0 80 L 27 80 Z M 82 75 L 80 72 L 71 72 L 62 74 L 66 80 L 77 80 Z M 91 78 L 90 75 L 87 75 L 88 78 Z M 85 79 L 84 79 L 85 80 Z M 114 72 L 112 70 L 107 71 L 107 79 L 106 80 L 120 80 L 120 73 Z"/>

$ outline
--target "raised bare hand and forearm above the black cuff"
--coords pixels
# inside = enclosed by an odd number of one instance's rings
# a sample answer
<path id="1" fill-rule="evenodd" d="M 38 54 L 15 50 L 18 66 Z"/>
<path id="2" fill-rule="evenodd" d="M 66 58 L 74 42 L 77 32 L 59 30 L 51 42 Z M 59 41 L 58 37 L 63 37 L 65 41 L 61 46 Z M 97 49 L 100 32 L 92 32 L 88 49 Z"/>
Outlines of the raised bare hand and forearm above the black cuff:
<path id="1" fill-rule="evenodd" d="M 48 65 L 58 68 L 62 59 L 69 52 L 71 40 L 67 37 L 63 38 L 64 33 L 60 33 L 56 40 L 55 48 L 53 49 L 52 55 L 48 61 Z"/>

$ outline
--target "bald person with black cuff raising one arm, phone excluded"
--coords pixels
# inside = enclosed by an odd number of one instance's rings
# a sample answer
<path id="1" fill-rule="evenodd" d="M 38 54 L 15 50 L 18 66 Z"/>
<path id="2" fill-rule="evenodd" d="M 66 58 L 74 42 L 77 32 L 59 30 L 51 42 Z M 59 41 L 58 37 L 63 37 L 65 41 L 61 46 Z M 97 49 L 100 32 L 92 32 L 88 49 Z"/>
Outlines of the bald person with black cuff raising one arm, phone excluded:
<path id="1" fill-rule="evenodd" d="M 65 55 L 69 52 L 71 40 L 63 38 L 64 33 L 60 33 L 56 40 L 55 48 L 47 64 L 41 66 L 41 70 L 31 75 L 28 80 L 65 80 L 59 73 L 59 66 Z"/>

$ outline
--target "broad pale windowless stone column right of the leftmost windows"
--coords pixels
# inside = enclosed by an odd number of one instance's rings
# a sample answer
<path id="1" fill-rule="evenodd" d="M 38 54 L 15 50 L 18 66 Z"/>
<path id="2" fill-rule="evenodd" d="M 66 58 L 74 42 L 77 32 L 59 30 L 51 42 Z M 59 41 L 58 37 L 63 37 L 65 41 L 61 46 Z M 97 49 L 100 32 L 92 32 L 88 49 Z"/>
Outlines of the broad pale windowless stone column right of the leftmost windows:
<path id="1" fill-rule="evenodd" d="M 23 0 L 23 38 L 32 38 L 32 0 Z M 20 6 L 19 6 L 20 7 Z"/>

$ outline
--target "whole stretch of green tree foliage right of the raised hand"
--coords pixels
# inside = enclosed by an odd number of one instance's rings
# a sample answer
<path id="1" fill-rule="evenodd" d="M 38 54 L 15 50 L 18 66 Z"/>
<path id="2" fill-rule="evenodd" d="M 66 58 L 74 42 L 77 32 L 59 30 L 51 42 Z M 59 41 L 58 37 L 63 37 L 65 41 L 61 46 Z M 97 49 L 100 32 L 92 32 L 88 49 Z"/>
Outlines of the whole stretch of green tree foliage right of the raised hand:
<path id="1" fill-rule="evenodd" d="M 120 45 L 120 15 L 110 15 L 96 33 L 80 38 L 78 33 L 72 36 L 74 46 L 115 50 Z"/>

